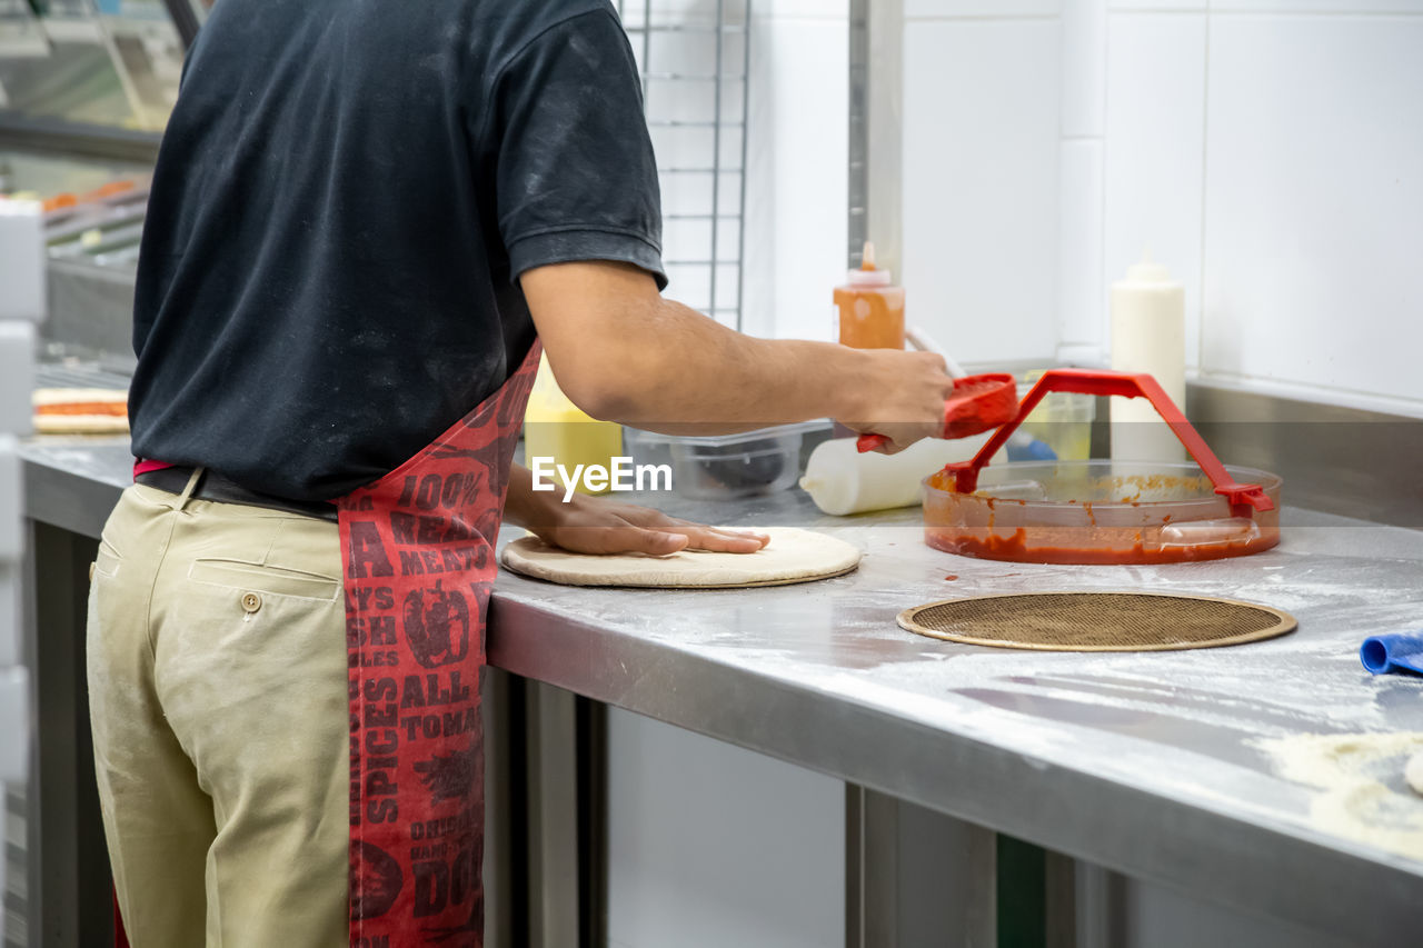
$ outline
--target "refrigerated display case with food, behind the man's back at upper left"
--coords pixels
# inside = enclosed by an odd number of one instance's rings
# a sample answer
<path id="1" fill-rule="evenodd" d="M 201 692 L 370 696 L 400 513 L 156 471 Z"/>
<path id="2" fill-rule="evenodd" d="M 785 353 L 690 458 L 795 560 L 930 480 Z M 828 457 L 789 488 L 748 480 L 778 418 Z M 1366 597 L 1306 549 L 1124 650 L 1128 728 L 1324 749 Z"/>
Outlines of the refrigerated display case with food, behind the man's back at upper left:
<path id="1" fill-rule="evenodd" d="M 121 386 L 132 370 L 148 179 L 208 6 L 0 0 L 0 194 L 46 208 L 41 380 Z"/>

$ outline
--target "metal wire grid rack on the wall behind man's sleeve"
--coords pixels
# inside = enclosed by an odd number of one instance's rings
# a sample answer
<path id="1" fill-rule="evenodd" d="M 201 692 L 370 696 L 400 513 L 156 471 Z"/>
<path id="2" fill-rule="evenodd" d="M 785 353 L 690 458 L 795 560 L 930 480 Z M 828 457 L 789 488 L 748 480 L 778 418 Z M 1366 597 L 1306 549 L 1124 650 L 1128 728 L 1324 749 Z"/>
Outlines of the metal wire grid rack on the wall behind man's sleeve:
<path id="1" fill-rule="evenodd" d="M 751 0 L 618 0 L 657 152 L 677 299 L 741 329 Z"/>

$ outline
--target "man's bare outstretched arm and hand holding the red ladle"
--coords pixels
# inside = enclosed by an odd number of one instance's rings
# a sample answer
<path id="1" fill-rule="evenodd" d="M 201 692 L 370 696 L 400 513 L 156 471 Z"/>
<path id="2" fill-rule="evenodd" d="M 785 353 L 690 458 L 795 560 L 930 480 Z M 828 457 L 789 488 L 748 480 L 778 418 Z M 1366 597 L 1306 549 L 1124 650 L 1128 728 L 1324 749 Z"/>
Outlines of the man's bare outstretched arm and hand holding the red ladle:
<path id="1" fill-rule="evenodd" d="M 939 356 L 743 336 L 626 263 L 538 266 L 521 283 L 559 386 L 593 417 L 734 433 L 830 416 L 896 448 L 942 431 Z"/>

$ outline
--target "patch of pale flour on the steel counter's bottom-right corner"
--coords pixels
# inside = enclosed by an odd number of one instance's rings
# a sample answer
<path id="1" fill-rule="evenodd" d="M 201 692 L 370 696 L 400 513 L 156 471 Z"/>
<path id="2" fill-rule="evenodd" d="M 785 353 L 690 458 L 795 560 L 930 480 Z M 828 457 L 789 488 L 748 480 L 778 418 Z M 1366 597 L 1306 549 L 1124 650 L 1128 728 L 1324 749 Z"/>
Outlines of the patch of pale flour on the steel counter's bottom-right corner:
<path id="1" fill-rule="evenodd" d="M 1279 776 L 1319 787 L 1309 820 L 1328 833 L 1423 860 L 1423 799 L 1403 780 L 1423 732 L 1296 734 L 1254 742 Z"/>

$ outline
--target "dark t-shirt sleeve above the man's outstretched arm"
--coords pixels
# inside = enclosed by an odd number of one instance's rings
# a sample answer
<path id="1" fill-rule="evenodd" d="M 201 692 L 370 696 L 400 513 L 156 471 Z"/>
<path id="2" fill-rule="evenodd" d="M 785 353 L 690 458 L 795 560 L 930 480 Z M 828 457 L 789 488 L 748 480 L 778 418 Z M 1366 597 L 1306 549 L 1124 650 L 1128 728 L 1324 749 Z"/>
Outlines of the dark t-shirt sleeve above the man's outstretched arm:
<path id="1" fill-rule="evenodd" d="M 638 65 L 608 11 L 556 24 L 492 88 L 499 235 L 509 272 L 571 260 L 662 266 L 657 167 Z"/>

